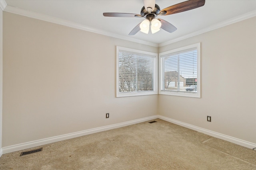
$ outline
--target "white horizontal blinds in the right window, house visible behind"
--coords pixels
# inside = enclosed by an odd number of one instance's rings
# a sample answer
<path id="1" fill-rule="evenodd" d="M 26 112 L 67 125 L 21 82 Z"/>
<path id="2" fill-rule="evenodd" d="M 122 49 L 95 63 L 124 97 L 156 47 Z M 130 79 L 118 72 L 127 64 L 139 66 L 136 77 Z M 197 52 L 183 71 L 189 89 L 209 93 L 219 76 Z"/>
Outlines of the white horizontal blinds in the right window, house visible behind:
<path id="1" fill-rule="evenodd" d="M 161 57 L 162 90 L 186 92 L 186 87 L 196 85 L 197 49 L 187 49 Z"/>

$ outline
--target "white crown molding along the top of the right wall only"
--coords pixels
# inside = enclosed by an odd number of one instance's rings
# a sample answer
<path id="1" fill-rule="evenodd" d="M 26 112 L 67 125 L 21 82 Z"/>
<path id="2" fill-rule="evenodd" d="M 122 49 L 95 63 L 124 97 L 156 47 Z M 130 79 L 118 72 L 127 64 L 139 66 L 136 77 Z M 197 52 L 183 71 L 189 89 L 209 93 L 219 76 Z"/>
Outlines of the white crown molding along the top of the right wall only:
<path id="1" fill-rule="evenodd" d="M 240 16 L 237 16 L 237 17 L 234 17 L 234 18 L 231 18 L 229 20 L 226 20 L 226 21 L 222 21 L 220 23 L 217 23 L 217 24 L 214 24 L 214 25 L 211 25 L 210 27 L 206 27 L 204 29 L 200 29 L 199 31 L 195 31 L 193 33 L 190 33 L 190 34 L 187 34 L 187 35 L 184 35 L 182 37 L 178 37 L 176 39 L 172 39 L 170 41 L 167 41 L 167 42 L 164 42 L 164 43 L 160 43 L 158 45 L 158 47 L 162 47 L 162 46 L 165 46 L 165 45 L 169 45 L 169 44 L 172 44 L 172 43 L 175 43 L 175 42 L 178 42 L 178 41 L 181 41 L 181 40 L 184 40 L 184 39 L 187 39 L 187 38 L 190 38 L 190 37 L 194 37 L 196 35 L 200 35 L 202 33 L 206 33 L 208 31 L 212 31 L 214 29 L 218 29 L 220 27 L 224 27 L 224 26 L 227 26 L 227 25 L 230 25 L 232 23 L 236 23 L 236 22 L 239 22 L 239 21 L 242 21 L 242 20 L 246 20 L 248 18 L 252 18 L 252 17 L 255 17 L 256 16 L 256 10 L 254 11 L 251 11 L 251 12 L 248 12 L 246 14 L 243 14 L 243 15 L 240 15 Z"/>

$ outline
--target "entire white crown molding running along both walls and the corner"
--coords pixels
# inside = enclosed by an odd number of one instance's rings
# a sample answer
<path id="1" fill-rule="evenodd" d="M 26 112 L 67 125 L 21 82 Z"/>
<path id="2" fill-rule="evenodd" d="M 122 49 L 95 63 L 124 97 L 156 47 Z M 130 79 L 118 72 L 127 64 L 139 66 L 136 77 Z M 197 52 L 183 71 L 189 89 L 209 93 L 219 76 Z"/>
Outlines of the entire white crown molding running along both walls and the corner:
<path id="1" fill-rule="evenodd" d="M 68 26 L 68 27 L 72 27 L 72 28 L 76 28 L 76 29 L 81 29 L 81 30 L 84 30 L 84 31 L 98 33 L 98 34 L 101 34 L 101 35 L 106 35 L 106 36 L 109 36 L 109 37 L 114 37 L 114 38 L 118 38 L 118 39 L 132 41 L 132 42 L 135 42 L 135 43 L 140 43 L 140 44 L 149 45 L 149 46 L 153 46 L 153 47 L 162 47 L 162 46 L 165 46 L 165 45 L 169 45 L 169 44 L 175 43 L 177 41 L 181 41 L 181 40 L 184 40 L 184 39 L 187 39 L 187 38 L 190 38 L 190 37 L 194 37 L 196 35 L 200 35 L 202 33 L 206 33 L 208 31 L 212 31 L 214 29 L 218 29 L 220 27 L 224 27 L 226 25 L 230 25 L 232 23 L 236 23 L 236 22 L 246 20 L 248 18 L 252 18 L 252 17 L 256 16 L 256 10 L 254 10 L 254 11 L 248 12 L 246 14 L 243 14 L 241 16 L 234 17 L 234 18 L 231 18 L 229 20 L 222 21 L 220 23 L 211 25 L 210 27 L 206 27 L 204 29 L 189 33 L 189 34 L 184 35 L 182 37 L 178 37 L 176 39 L 172 39 L 170 41 L 157 44 L 157 43 L 150 43 L 150 42 L 147 42 L 147 41 L 142 41 L 142 40 L 139 40 L 139 39 L 134 39 L 132 37 L 126 37 L 126 36 L 123 36 L 123 35 L 118 35 L 118 34 L 111 33 L 111 32 L 108 32 L 108 31 L 104 31 L 104 30 L 101 30 L 101 29 L 88 27 L 86 25 L 71 22 L 71 21 L 68 21 L 68 20 L 63 20 L 63 19 L 60 19 L 60 18 L 55 18 L 55 17 L 52 17 L 52 16 L 39 14 L 39 13 L 36 13 L 36 12 L 22 10 L 20 8 L 15 8 L 13 6 L 8 6 L 5 2 L 5 0 L 0 0 L 0 2 L 1 2 L 0 7 L 5 12 L 10 12 L 10 13 L 13 13 L 13 14 L 18 14 L 18 15 L 22 15 L 22 16 L 26 16 L 26 17 L 30 17 L 30 18 L 35 18 L 35 19 L 38 19 L 38 20 L 48 21 L 48 22 L 59 24 L 59 25 L 64 25 L 64 26 Z"/>

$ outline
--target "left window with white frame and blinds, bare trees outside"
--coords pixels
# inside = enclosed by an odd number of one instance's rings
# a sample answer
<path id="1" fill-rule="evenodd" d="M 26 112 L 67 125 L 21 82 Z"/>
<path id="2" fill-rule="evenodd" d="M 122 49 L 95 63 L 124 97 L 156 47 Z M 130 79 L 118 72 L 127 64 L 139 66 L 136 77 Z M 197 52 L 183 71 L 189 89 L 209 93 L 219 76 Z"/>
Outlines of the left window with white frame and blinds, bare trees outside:
<path id="1" fill-rule="evenodd" d="M 116 97 L 158 94 L 158 54 L 116 47 Z"/>

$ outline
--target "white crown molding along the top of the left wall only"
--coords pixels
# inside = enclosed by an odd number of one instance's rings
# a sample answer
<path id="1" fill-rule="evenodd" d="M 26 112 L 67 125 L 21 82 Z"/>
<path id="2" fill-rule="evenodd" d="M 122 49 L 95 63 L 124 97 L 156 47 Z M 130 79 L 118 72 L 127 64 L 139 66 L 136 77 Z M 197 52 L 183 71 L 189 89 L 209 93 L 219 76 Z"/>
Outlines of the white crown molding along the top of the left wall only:
<path id="1" fill-rule="evenodd" d="M 2 0 L 1 0 L 1 2 L 2 2 Z M 68 21 L 68 20 L 63 20 L 63 19 L 60 19 L 60 18 L 55 18 L 55 17 L 48 16 L 48 15 L 45 15 L 45 14 L 39 14 L 39 13 L 31 12 L 31 11 L 28 11 L 28 10 L 22 10 L 20 8 L 15 8 L 13 6 L 8 6 L 7 5 L 5 7 L 4 11 L 5 12 L 10 12 L 10 13 L 13 13 L 13 14 L 18 14 L 18 15 L 21 15 L 21 16 L 35 18 L 35 19 L 38 19 L 38 20 L 43 20 L 43 21 L 56 23 L 56 24 L 59 24 L 59 25 L 64 25 L 64 26 L 67 26 L 67 27 L 72 27 L 72 28 L 81 29 L 81 30 L 84 30 L 84 31 L 89 31 L 89 32 L 93 32 L 93 33 L 97 33 L 97 34 L 101 34 L 101 35 L 106 35 L 106 36 L 109 36 L 109 37 L 114 37 L 114 38 L 118 38 L 118 39 L 132 41 L 132 42 L 135 42 L 135 43 L 140 43 L 140 44 L 150 45 L 150 46 L 153 46 L 153 47 L 158 47 L 157 43 L 150 43 L 150 42 L 147 42 L 147 41 L 142 41 L 142 40 L 134 39 L 134 38 L 131 38 L 131 37 L 126 37 L 126 36 L 118 35 L 118 34 L 115 34 L 115 33 L 110 33 L 108 31 L 104 31 L 104 30 L 101 30 L 101 29 L 95 29 L 95 28 L 92 28 L 92 27 L 88 27 L 86 25 L 71 22 L 71 21 Z"/>

